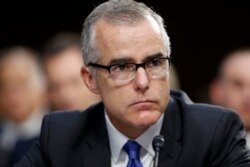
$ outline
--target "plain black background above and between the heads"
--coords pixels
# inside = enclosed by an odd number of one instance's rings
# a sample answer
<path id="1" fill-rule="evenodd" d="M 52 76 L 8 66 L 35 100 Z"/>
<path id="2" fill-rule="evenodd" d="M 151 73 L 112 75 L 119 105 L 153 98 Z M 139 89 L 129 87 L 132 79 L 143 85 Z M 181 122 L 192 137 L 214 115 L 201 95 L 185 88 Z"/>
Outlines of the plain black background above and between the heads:
<path id="1" fill-rule="evenodd" d="M 41 50 L 60 31 L 79 32 L 87 14 L 103 0 L 8 1 L 0 3 L 0 49 L 26 45 Z M 247 1 L 144 1 L 164 19 L 181 87 L 197 102 L 228 52 L 250 46 Z"/>

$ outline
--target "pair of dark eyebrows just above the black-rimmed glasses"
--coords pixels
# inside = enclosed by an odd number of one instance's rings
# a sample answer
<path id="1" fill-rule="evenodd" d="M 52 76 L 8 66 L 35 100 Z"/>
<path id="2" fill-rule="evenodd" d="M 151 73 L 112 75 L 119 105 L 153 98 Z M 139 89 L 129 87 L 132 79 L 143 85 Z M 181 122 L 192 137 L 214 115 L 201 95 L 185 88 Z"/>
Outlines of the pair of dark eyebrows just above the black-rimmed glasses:
<path id="1" fill-rule="evenodd" d="M 165 57 L 165 56 L 164 56 L 163 53 L 159 52 L 159 53 L 147 56 L 142 61 L 145 62 L 145 61 L 149 61 L 149 60 L 152 60 L 152 59 L 155 59 L 155 58 L 159 58 L 159 57 Z M 124 63 L 134 63 L 134 59 L 129 58 L 129 57 L 119 58 L 119 59 L 113 59 L 113 60 L 110 61 L 109 64 L 113 65 L 113 64 L 124 64 Z"/>

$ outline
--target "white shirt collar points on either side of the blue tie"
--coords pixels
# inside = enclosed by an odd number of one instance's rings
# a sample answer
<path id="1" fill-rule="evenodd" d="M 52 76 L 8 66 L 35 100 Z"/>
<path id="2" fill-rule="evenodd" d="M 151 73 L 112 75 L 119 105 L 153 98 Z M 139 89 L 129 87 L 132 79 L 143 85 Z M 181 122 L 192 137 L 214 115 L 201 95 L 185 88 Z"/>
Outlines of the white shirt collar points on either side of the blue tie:
<path id="1" fill-rule="evenodd" d="M 160 119 L 152 126 L 150 126 L 142 135 L 135 139 L 142 148 L 144 148 L 150 155 L 154 156 L 155 152 L 153 150 L 152 141 L 154 136 L 160 134 L 164 114 L 161 115 Z M 128 137 L 123 135 L 118 131 L 114 125 L 111 123 L 106 111 L 105 111 L 105 121 L 107 125 L 109 143 L 111 149 L 111 155 L 115 162 L 118 161 L 121 150 L 124 144 L 129 140 Z"/>

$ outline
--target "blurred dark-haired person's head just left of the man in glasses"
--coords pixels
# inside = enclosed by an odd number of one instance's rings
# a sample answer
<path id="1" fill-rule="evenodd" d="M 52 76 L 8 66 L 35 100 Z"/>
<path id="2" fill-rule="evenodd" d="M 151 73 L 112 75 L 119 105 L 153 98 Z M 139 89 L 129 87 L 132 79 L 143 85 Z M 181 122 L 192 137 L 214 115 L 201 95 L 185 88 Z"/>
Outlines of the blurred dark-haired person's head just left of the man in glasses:
<path id="1" fill-rule="evenodd" d="M 80 76 L 83 58 L 80 35 L 61 32 L 46 43 L 43 54 L 51 110 L 85 109 L 99 101 Z"/>

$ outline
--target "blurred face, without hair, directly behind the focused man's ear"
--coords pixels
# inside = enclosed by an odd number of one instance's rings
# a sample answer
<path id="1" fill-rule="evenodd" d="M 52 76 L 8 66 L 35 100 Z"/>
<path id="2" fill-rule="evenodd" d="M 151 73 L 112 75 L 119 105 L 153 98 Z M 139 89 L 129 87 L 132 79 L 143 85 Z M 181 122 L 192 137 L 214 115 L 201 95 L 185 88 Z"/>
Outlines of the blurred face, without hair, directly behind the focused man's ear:
<path id="1" fill-rule="evenodd" d="M 82 82 L 82 65 L 81 51 L 74 47 L 47 59 L 48 95 L 54 110 L 84 109 L 99 99 Z"/>

